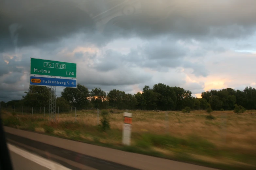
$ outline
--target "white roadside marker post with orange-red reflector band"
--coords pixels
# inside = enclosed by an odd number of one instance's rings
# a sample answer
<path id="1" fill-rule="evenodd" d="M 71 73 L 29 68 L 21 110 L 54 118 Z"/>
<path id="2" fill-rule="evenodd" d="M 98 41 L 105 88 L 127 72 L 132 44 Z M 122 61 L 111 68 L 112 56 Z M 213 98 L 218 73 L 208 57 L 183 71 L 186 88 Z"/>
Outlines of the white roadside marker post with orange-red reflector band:
<path id="1" fill-rule="evenodd" d="M 131 122 L 132 113 L 124 112 L 124 124 L 123 124 L 123 144 L 130 145 L 131 143 Z"/>

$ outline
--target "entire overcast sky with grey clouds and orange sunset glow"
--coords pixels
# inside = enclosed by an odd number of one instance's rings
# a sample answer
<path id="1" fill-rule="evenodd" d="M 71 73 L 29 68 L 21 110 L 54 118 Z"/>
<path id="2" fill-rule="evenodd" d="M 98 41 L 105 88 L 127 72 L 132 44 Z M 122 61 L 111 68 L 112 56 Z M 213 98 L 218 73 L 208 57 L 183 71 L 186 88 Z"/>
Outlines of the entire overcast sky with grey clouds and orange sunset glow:
<path id="1" fill-rule="evenodd" d="M 161 82 L 199 97 L 256 88 L 255 7 L 255 0 L 2 0 L 0 101 L 25 94 L 31 57 L 77 63 L 77 82 L 89 90 L 134 94 Z"/>

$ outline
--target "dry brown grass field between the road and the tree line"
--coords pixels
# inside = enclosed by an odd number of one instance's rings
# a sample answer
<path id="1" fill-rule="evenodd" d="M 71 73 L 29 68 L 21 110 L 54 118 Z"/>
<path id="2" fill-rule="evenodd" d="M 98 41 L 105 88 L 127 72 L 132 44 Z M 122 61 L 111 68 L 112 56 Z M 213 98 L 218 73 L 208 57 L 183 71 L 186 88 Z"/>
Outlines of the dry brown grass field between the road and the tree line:
<path id="1" fill-rule="evenodd" d="M 208 113 L 205 110 L 182 113 L 180 111 L 109 109 L 109 112 L 111 130 L 107 132 L 97 130 L 97 110 L 79 110 L 76 118 L 74 110 L 70 113 L 61 113 L 59 116 L 56 114 L 55 122 L 50 122 L 48 115 L 43 117 L 43 114 L 34 114 L 33 117 L 31 114 L 22 116 L 20 113 L 15 116 L 10 113 L 2 115 L 4 124 L 7 126 L 40 133 L 50 133 L 45 128 L 45 126 L 50 126 L 52 134 L 60 137 L 121 146 L 123 112 L 131 112 L 133 113 L 132 146 L 148 149 L 147 146 L 145 147 L 147 143 L 141 143 L 145 139 L 142 135 L 172 136 L 177 139 L 186 139 L 187 143 L 193 143 L 193 145 L 178 144 L 176 147 L 154 145 L 150 148 L 169 158 L 175 157 L 177 153 L 186 152 L 188 153 L 186 156 L 204 162 L 256 167 L 255 110 L 242 114 L 236 114 L 233 111 L 214 111 L 212 115 L 216 118 L 215 120 L 206 119 L 205 116 Z M 14 126 L 13 123 L 6 121 L 11 117 L 19 120 L 19 123 Z M 32 129 L 31 126 L 33 126 Z M 208 146 L 208 143 L 212 145 Z M 209 147 L 209 153 L 204 146 Z M 211 146 L 214 149 L 211 149 Z"/>

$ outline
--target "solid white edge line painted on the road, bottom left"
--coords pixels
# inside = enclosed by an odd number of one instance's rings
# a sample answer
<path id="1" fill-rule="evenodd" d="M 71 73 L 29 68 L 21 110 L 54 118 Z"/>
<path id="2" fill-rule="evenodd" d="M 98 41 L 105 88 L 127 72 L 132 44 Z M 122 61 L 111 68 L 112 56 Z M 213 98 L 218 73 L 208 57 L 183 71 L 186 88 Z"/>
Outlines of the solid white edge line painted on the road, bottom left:
<path id="1" fill-rule="evenodd" d="M 43 167 L 46 167 L 48 169 L 51 169 L 51 170 L 71 170 L 65 166 L 62 166 L 60 165 L 59 163 L 55 163 L 53 161 L 50 161 L 50 160 L 47 160 L 41 156 L 37 156 L 35 154 L 32 154 L 32 153 L 29 153 L 23 149 L 19 149 L 11 144 L 7 144 L 8 145 L 8 148 L 9 150 L 11 150 L 12 152 L 18 154 L 18 155 L 21 155 L 22 157 L 24 158 L 27 158 L 29 159 L 30 161 L 33 161 Z"/>

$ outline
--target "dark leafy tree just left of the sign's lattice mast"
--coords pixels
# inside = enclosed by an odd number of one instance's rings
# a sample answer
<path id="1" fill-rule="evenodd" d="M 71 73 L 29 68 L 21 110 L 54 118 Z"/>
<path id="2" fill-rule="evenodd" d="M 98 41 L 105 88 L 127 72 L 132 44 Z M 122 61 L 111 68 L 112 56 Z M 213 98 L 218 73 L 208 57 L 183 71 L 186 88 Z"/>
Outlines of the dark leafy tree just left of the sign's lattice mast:
<path id="1" fill-rule="evenodd" d="M 29 86 L 28 92 L 23 96 L 24 105 L 29 107 L 49 106 L 50 89 L 46 86 Z"/>

